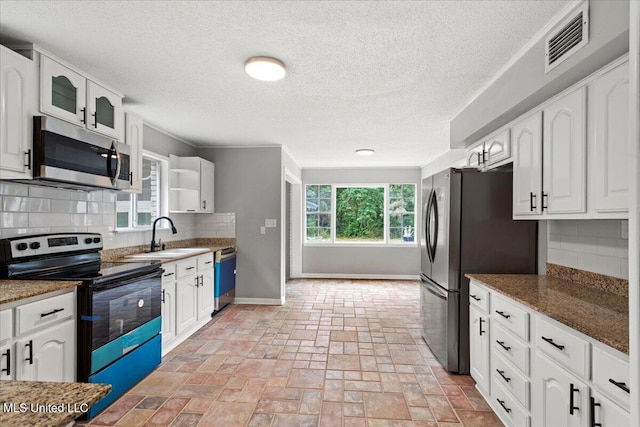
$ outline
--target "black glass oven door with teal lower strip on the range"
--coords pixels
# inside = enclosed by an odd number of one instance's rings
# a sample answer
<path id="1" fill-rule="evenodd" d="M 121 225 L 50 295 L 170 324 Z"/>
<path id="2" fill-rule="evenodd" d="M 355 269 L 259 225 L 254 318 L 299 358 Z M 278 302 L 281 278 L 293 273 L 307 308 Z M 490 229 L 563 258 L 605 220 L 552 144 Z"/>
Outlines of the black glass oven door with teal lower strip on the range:
<path id="1" fill-rule="evenodd" d="M 160 332 L 161 269 L 78 288 L 78 380 Z"/>

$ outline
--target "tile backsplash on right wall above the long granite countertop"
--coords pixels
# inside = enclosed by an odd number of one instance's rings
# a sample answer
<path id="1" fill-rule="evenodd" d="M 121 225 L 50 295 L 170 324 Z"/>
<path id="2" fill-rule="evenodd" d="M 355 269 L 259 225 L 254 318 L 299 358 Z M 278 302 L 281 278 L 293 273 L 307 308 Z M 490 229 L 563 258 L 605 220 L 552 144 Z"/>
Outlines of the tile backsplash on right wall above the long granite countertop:
<path id="1" fill-rule="evenodd" d="M 547 262 L 628 280 L 627 220 L 554 220 L 548 225 Z"/>

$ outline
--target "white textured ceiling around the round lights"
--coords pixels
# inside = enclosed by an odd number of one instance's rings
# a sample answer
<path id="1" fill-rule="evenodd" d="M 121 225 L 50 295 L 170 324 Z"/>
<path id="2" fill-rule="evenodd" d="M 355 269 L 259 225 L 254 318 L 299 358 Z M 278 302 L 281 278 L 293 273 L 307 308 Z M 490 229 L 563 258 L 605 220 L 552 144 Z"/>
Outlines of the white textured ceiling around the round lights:
<path id="1" fill-rule="evenodd" d="M 422 166 L 566 3 L 0 0 L 0 36 L 41 45 L 197 146 L 281 144 L 302 167 Z M 255 55 L 284 61 L 286 78 L 248 77 Z"/>

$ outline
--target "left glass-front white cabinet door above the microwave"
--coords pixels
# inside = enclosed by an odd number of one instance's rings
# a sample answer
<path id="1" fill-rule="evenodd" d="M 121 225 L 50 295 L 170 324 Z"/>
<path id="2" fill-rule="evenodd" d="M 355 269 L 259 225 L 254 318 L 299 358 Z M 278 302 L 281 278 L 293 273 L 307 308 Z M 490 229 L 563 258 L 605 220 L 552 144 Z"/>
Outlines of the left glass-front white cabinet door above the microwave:
<path id="1" fill-rule="evenodd" d="M 41 58 L 42 112 L 84 126 L 87 79 L 51 58 Z"/>

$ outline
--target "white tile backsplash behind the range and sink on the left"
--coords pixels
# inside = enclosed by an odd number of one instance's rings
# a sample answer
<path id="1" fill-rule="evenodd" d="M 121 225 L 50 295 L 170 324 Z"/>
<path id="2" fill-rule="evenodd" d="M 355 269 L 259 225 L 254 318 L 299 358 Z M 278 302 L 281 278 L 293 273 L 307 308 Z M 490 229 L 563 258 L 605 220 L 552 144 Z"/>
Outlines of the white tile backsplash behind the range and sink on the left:
<path id="1" fill-rule="evenodd" d="M 149 243 L 151 231 L 115 230 L 116 192 L 92 192 L 0 182 L 0 238 L 22 234 L 94 232 L 105 249 Z M 165 241 L 235 237 L 235 214 L 172 214 L 178 233 L 159 229 Z M 163 224 L 159 224 L 163 225 Z"/>

